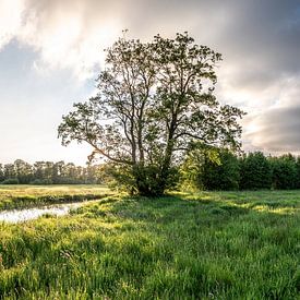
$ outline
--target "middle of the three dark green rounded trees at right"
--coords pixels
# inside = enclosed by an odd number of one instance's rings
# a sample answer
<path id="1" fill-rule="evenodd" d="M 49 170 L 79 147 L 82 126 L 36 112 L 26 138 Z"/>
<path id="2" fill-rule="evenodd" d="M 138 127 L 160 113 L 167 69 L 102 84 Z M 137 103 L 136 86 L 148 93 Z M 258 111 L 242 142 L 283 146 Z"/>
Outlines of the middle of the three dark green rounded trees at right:
<path id="1" fill-rule="evenodd" d="M 271 189 L 272 168 L 269 160 L 262 152 L 249 153 L 240 159 L 241 189 Z"/>

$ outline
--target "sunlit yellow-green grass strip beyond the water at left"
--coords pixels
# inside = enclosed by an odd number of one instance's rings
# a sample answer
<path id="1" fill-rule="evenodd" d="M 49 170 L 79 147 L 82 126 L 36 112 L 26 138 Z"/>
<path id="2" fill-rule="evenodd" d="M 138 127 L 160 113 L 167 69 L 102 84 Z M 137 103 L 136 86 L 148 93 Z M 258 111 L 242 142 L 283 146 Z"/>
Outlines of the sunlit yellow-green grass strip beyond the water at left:
<path id="1" fill-rule="evenodd" d="M 0 211 L 100 199 L 110 193 L 105 185 L 0 184 Z"/>

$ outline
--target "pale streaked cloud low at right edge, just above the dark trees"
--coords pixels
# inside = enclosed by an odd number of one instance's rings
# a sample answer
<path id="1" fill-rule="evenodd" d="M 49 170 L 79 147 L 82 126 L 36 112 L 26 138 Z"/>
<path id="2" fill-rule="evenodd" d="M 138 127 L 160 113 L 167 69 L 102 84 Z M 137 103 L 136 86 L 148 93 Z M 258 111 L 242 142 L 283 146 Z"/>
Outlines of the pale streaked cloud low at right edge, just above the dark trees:
<path id="1" fill-rule="evenodd" d="M 249 149 L 300 154 L 300 76 L 283 80 L 274 105 L 244 120 Z"/>

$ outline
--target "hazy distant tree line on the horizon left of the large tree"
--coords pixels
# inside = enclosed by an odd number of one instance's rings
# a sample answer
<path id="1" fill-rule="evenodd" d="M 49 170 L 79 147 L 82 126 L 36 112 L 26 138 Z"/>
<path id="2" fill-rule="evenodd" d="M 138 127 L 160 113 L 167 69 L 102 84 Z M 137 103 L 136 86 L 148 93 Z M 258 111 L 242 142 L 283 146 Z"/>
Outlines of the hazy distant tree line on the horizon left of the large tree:
<path id="1" fill-rule="evenodd" d="M 33 165 L 16 159 L 0 164 L 2 184 L 95 184 L 103 183 L 101 165 L 75 166 L 64 161 L 36 161 Z"/>

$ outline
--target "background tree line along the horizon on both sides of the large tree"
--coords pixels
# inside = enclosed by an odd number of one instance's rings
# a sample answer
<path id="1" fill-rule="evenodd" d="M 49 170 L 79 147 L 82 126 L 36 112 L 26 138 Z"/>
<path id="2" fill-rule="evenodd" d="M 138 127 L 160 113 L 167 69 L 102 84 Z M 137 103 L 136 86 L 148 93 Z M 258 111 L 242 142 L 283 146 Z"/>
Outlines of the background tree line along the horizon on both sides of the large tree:
<path id="1" fill-rule="evenodd" d="M 96 184 L 122 185 L 120 166 L 110 163 L 75 166 L 64 161 L 16 159 L 0 164 L 2 184 Z M 237 155 L 225 148 L 196 148 L 173 170 L 184 190 L 290 190 L 300 189 L 300 157 L 266 156 L 262 152 Z M 123 172 L 128 182 L 128 173 Z M 117 179 L 117 180 L 116 180 Z M 125 183 L 124 183 L 125 184 Z"/>

